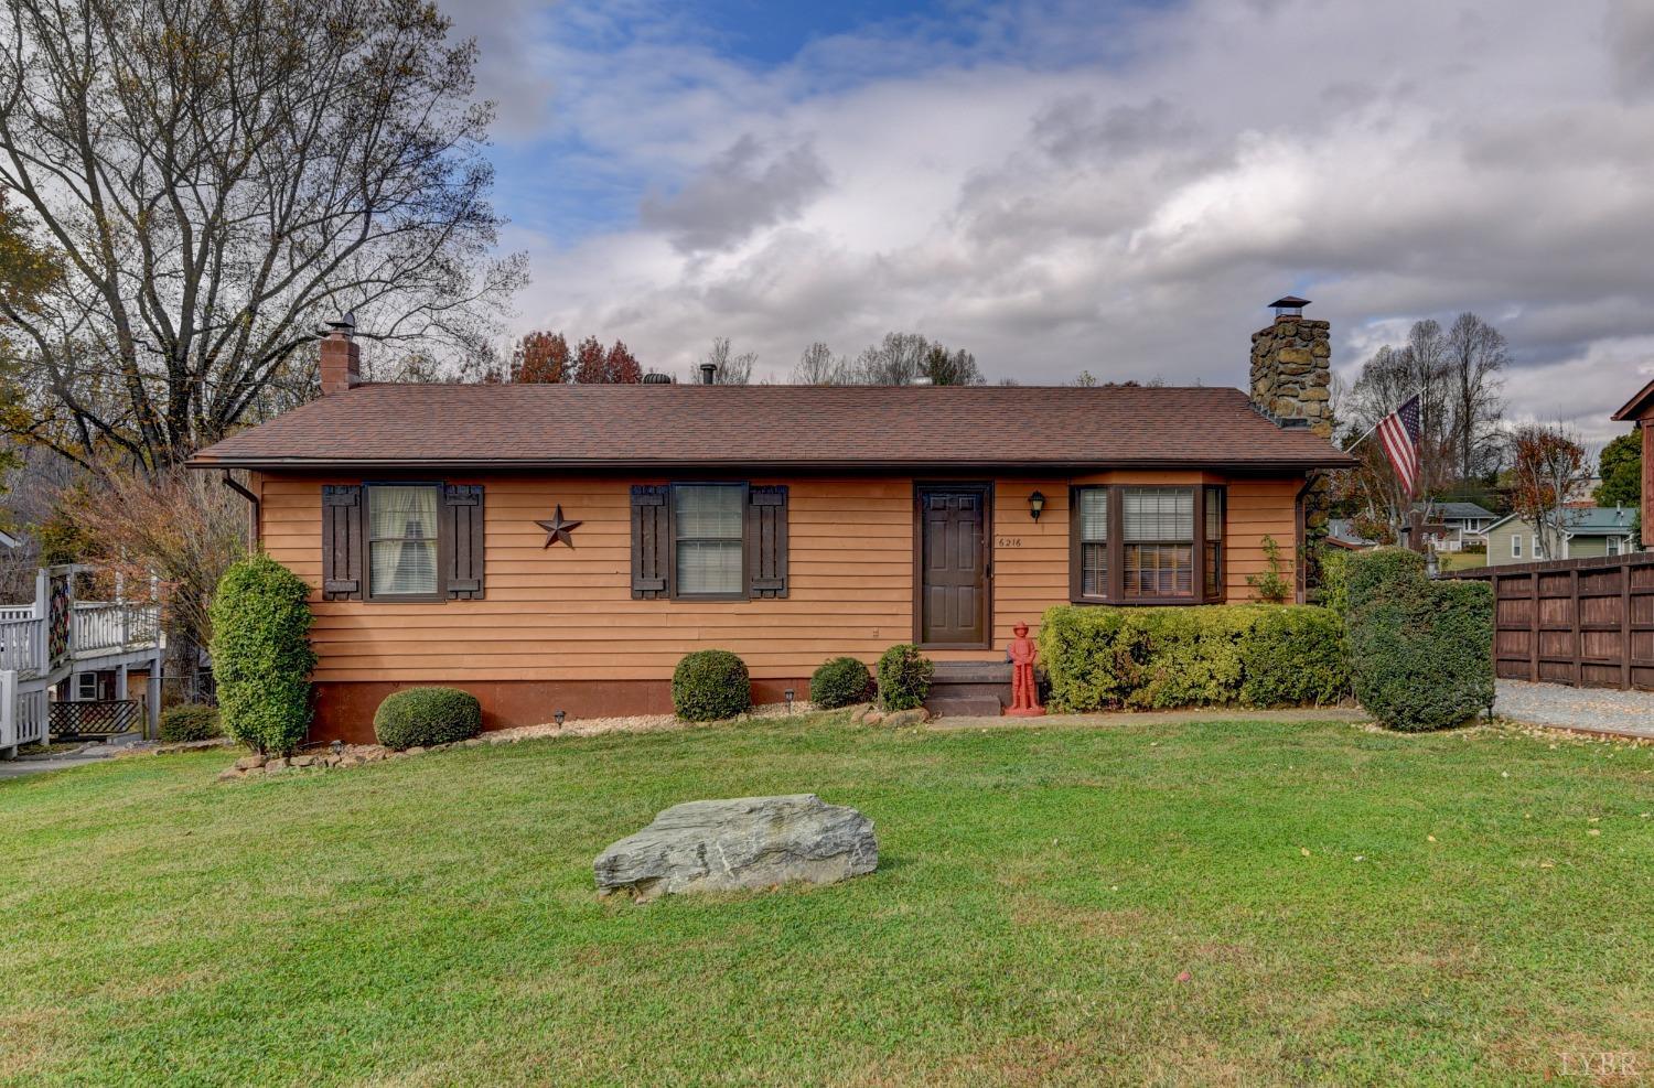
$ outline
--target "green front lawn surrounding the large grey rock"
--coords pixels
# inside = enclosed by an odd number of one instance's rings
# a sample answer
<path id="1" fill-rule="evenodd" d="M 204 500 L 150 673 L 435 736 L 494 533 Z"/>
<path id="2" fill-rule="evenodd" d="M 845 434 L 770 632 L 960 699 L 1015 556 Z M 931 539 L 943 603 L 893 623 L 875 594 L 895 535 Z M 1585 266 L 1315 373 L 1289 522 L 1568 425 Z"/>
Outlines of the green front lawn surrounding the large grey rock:
<path id="1" fill-rule="evenodd" d="M 0 1080 L 1492 1085 L 1561 1075 L 1563 1052 L 1654 1068 L 1651 749 L 830 718 L 215 784 L 227 762 L 0 784 Z M 875 820 L 878 873 L 595 898 L 592 857 L 660 809 L 799 790 Z"/>

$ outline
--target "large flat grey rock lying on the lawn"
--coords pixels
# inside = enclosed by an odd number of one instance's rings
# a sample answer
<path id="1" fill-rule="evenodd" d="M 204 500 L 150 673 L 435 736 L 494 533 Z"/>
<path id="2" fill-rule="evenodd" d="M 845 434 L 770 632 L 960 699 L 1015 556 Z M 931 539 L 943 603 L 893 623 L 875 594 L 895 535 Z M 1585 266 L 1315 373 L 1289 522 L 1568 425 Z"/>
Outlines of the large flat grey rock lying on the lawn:
<path id="1" fill-rule="evenodd" d="M 673 805 L 597 855 L 602 895 L 638 901 L 676 891 L 736 891 L 791 881 L 830 885 L 878 865 L 873 822 L 815 794 Z"/>

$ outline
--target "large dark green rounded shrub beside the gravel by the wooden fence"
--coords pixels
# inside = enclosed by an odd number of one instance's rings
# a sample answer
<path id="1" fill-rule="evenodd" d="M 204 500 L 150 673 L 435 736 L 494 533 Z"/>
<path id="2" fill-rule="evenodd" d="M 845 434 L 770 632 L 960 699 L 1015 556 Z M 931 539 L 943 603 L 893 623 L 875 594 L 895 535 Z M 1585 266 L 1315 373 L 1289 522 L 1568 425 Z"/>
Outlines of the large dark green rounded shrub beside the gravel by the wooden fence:
<path id="1" fill-rule="evenodd" d="M 1424 575 L 1424 557 L 1383 549 L 1350 564 L 1355 696 L 1391 729 L 1462 724 L 1494 704 L 1494 590 Z"/>

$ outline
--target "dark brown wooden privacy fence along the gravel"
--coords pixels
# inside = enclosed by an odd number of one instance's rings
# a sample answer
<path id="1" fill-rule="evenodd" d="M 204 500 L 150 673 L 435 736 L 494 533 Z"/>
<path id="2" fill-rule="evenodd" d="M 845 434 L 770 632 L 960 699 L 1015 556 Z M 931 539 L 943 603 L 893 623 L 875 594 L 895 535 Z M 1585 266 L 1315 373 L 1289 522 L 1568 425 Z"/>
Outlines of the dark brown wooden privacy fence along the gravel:
<path id="1" fill-rule="evenodd" d="M 1654 552 L 1475 567 L 1494 584 L 1494 673 L 1654 691 Z"/>

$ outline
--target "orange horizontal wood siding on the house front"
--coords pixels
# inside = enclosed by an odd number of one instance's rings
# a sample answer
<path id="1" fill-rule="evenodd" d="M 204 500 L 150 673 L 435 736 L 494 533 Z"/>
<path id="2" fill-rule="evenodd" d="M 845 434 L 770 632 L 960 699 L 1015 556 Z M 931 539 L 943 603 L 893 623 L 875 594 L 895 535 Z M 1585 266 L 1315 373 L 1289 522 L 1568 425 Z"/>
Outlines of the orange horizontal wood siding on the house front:
<path id="1" fill-rule="evenodd" d="M 1193 483 L 1189 473 L 1108 473 L 1075 483 Z M 739 653 L 756 678 L 807 676 L 825 658 L 877 660 L 913 638 L 913 481 L 758 480 L 789 484 L 786 599 L 633 600 L 630 483 L 617 478 L 447 476 L 486 486 L 486 599 L 430 604 L 314 600 L 316 680 L 665 680 L 688 650 Z M 346 476 L 261 473 L 263 546 L 321 582 L 321 484 Z M 1264 567 L 1262 536 L 1282 544 L 1292 577 L 1298 478 L 1229 483 L 1229 599 Z M 999 480 L 994 496 L 994 645 L 1017 620 L 1068 599 L 1067 478 Z M 1035 524 L 1027 496 L 1045 494 Z M 544 549 L 534 524 L 561 503 L 576 547 Z M 936 651 L 982 660 L 997 650 Z"/>

